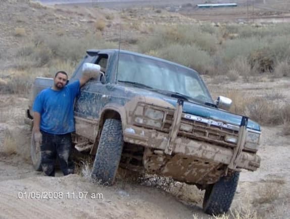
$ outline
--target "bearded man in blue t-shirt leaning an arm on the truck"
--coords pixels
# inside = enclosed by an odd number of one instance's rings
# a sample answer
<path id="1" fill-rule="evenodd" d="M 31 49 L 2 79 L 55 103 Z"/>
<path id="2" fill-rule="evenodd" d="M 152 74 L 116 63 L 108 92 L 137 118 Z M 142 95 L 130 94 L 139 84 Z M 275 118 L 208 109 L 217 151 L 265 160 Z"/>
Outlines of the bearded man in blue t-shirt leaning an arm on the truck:
<path id="1" fill-rule="evenodd" d="M 66 72 L 58 71 L 53 87 L 42 90 L 34 100 L 34 140 L 40 144 L 42 171 L 47 176 L 55 176 L 57 156 L 63 174 L 73 173 L 70 161 L 71 132 L 75 131 L 73 103 L 80 87 L 90 78 L 98 77 L 100 71 L 93 74 L 84 72 L 80 80 L 67 85 Z"/>

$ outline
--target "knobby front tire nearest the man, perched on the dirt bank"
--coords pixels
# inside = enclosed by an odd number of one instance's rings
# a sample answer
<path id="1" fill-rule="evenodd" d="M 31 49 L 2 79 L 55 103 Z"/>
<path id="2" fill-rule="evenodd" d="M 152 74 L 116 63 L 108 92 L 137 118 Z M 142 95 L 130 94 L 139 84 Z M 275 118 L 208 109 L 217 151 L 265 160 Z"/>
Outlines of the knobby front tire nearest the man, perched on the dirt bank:
<path id="1" fill-rule="evenodd" d="M 105 121 L 98 150 L 96 151 L 91 177 L 112 185 L 115 181 L 123 150 L 122 122 L 116 119 Z"/>

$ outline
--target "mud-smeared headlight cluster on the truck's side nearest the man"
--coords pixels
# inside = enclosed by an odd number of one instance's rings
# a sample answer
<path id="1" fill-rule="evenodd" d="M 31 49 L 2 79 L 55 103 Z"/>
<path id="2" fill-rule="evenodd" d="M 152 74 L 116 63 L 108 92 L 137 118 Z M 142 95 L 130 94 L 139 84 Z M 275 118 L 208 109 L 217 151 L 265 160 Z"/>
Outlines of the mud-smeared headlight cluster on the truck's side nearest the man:
<path id="1" fill-rule="evenodd" d="M 145 126 L 152 126 L 155 128 L 161 128 L 164 117 L 164 111 L 146 107 L 143 111 L 143 116 L 137 115 L 134 118 L 134 122 Z"/>

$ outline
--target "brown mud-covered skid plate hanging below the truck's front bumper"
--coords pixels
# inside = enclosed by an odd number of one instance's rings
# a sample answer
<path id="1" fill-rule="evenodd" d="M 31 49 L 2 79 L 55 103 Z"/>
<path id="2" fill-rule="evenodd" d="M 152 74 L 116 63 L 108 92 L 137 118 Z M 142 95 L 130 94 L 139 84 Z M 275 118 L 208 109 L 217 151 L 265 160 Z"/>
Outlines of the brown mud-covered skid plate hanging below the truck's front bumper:
<path id="1" fill-rule="evenodd" d="M 215 183 L 226 170 L 226 165 L 183 154 L 168 156 L 149 148 L 144 152 L 143 164 L 149 173 L 201 185 Z"/>

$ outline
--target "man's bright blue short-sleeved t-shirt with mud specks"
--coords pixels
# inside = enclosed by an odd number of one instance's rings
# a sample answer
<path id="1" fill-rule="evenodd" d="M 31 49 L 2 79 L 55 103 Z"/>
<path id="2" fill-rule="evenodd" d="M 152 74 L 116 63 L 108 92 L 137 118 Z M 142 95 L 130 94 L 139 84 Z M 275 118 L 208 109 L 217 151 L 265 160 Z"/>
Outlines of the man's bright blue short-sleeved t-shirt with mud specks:
<path id="1" fill-rule="evenodd" d="M 33 111 L 40 114 L 40 130 L 51 134 L 75 131 L 73 104 L 79 90 L 80 83 L 77 80 L 60 91 L 47 88 L 37 95 Z"/>

